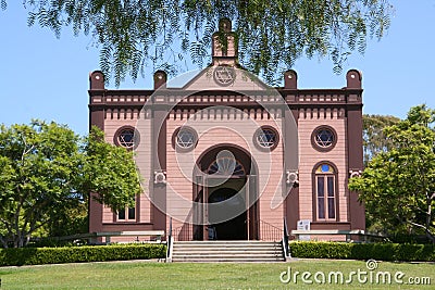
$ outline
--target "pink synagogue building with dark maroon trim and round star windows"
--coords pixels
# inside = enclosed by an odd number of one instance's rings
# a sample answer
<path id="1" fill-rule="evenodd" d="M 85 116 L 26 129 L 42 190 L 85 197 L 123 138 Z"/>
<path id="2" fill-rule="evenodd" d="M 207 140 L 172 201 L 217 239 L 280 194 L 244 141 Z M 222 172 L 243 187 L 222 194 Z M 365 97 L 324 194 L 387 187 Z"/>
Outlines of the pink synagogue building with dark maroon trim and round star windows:
<path id="1" fill-rule="evenodd" d="M 117 213 L 91 200 L 89 231 L 261 241 L 285 223 L 364 230 L 364 207 L 347 188 L 363 169 L 361 73 L 349 71 L 344 88 L 298 89 L 288 71 L 271 88 L 238 64 L 231 23 L 220 26 L 227 46 L 214 36 L 212 63 L 187 81 L 158 71 L 153 89 L 112 90 L 90 74 L 90 125 L 135 151 L 144 192 Z"/>

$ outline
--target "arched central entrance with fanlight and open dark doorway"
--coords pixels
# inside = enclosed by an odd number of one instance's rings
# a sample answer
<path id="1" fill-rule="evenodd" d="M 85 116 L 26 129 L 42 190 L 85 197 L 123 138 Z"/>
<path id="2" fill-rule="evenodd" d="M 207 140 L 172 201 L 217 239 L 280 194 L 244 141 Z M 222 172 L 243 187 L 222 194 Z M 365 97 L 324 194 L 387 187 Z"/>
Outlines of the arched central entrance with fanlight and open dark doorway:
<path id="1" fill-rule="evenodd" d="M 257 165 L 234 144 L 206 151 L 194 174 L 195 240 L 257 240 L 259 203 Z"/>

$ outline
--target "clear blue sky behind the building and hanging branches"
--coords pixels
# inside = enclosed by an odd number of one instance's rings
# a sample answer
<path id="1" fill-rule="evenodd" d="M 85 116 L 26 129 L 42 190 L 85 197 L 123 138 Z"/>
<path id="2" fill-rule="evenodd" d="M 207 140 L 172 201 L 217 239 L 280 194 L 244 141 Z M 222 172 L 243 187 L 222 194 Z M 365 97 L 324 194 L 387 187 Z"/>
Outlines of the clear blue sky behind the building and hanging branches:
<path id="1" fill-rule="evenodd" d="M 299 88 L 341 88 L 349 68 L 363 74 L 364 113 L 405 117 L 412 105 L 435 109 L 435 0 L 396 0 L 388 34 L 372 40 L 364 55 L 355 53 L 343 75 L 335 75 L 326 58 L 301 59 L 294 67 Z M 88 129 L 88 75 L 99 68 L 98 48 L 90 37 L 74 37 L 64 28 L 60 39 L 51 30 L 27 27 L 20 0 L 0 11 L 0 123 L 55 121 L 84 135 Z M 149 89 L 152 76 L 121 88 Z M 112 86 L 113 88 L 113 86 Z"/>

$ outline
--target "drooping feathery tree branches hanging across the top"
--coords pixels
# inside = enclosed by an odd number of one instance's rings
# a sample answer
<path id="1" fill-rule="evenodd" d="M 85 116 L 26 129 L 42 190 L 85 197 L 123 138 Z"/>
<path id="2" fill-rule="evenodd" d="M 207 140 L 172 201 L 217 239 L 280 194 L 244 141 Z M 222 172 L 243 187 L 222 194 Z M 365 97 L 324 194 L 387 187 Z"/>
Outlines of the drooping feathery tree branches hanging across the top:
<path id="1" fill-rule="evenodd" d="M 91 35 L 100 46 L 100 68 L 116 85 L 152 63 L 175 74 L 190 53 L 202 67 L 212 34 L 222 17 L 235 24 L 240 63 L 274 83 L 302 55 L 330 55 L 339 73 L 366 39 L 381 39 L 389 27 L 388 0 L 23 0 L 28 24 L 39 23 L 57 37 L 62 27 Z M 1 0 L 7 8 L 7 0 Z M 221 35 L 222 36 L 222 35 Z M 221 37 L 221 39 L 225 39 Z M 179 49 L 175 49 L 179 47 Z M 105 78 L 105 79 L 109 79 Z M 281 76 L 279 76 L 281 79 Z M 271 84 L 271 85 L 272 85 Z"/>

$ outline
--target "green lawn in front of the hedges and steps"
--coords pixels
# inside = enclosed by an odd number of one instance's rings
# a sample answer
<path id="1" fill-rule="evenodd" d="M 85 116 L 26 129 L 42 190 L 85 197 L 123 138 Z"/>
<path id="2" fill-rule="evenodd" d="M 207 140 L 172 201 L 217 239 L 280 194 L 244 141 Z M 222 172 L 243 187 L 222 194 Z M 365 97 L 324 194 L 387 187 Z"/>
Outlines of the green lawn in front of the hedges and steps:
<path id="1" fill-rule="evenodd" d="M 283 283 L 279 275 L 288 272 L 310 272 L 312 285 L 306 285 L 301 275 L 294 281 Z M 327 282 L 331 272 L 343 272 L 345 280 L 350 272 L 368 272 L 373 275 L 373 283 L 360 283 L 353 276 L 350 285 Z M 316 272 L 324 273 L 326 282 L 314 281 Z M 405 273 L 403 285 L 376 285 L 375 276 L 389 272 L 391 279 L 397 272 Z M 363 275 L 363 274 L 362 274 Z M 283 276 L 285 279 L 287 276 Z M 411 286 L 408 278 L 430 277 L 432 286 Z M 1 290 L 5 289 L 434 289 L 435 264 L 378 263 L 377 269 L 368 270 L 359 261 L 299 260 L 273 264 L 191 264 L 157 262 L 111 262 L 0 268 Z M 322 278 L 321 274 L 316 276 Z M 364 276 L 361 276 L 363 280 Z"/>

